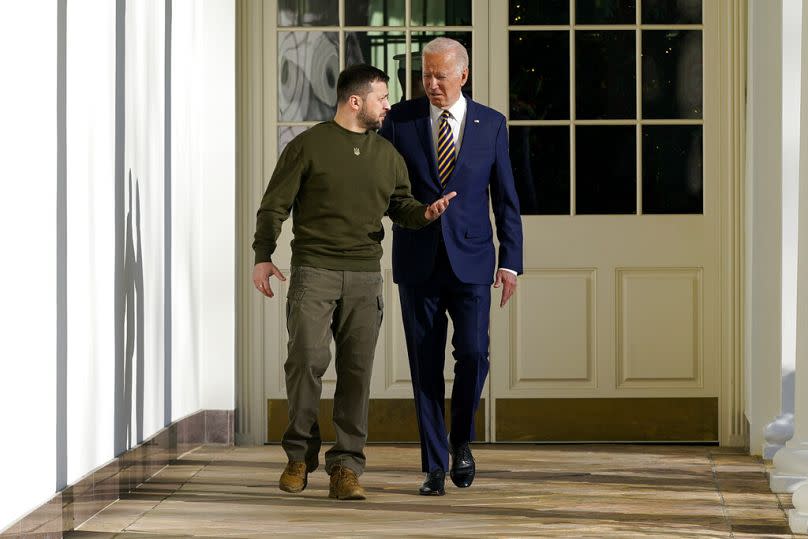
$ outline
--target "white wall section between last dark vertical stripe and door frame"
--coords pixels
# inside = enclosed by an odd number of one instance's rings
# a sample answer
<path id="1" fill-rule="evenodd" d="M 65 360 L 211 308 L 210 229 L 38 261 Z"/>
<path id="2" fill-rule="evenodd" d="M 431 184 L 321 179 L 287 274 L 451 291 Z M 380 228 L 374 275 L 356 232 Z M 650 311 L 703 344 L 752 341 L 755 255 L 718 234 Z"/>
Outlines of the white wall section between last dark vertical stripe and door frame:
<path id="1" fill-rule="evenodd" d="M 174 0 L 173 13 L 172 361 L 200 392 L 173 377 L 177 418 L 195 396 L 206 409 L 235 406 L 235 107 L 223 106 L 235 103 L 235 10 L 226 0 Z M 195 299 L 194 289 L 206 294 Z"/>

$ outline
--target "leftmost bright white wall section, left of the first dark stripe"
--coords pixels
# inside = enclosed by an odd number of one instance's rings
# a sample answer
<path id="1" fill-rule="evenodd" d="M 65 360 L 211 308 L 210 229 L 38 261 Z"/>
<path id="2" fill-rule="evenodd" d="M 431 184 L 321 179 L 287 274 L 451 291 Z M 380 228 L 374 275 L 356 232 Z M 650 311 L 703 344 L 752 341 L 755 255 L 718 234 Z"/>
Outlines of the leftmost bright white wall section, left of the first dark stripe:
<path id="1" fill-rule="evenodd" d="M 56 21 L 0 4 L 0 529 L 56 484 Z"/>

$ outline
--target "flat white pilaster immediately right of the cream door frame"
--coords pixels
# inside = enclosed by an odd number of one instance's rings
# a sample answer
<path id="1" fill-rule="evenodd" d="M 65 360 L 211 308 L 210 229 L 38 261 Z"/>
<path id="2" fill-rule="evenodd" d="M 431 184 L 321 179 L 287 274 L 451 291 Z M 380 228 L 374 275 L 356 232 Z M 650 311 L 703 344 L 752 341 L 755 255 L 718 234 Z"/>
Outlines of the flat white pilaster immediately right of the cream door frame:
<path id="1" fill-rule="evenodd" d="M 752 454 L 780 414 L 782 4 L 749 3 L 746 186 L 746 417 Z M 773 61 L 777 59 L 777 61 Z M 771 429 L 770 429 L 771 430 Z"/>

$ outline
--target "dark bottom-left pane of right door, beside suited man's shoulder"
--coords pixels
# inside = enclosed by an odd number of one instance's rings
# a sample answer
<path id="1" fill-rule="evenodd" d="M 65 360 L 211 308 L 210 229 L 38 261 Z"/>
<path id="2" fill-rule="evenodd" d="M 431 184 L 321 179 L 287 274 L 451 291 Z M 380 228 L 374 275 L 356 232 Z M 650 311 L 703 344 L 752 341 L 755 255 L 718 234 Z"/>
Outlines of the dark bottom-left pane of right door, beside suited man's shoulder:
<path id="1" fill-rule="evenodd" d="M 509 132 L 522 215 L 569 215 L 570 128 L 519 126 Z"/>

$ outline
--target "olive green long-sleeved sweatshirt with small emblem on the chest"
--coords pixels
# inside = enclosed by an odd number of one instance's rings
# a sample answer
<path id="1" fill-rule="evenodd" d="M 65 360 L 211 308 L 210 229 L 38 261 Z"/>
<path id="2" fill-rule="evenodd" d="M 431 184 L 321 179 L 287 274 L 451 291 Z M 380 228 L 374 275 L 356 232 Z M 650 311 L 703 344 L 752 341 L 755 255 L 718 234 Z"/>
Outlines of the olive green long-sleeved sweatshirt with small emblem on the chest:
<path id="1" fill-rule="evenodd" d="M 283 150 L 258 210 L 255 263 L 269 262 L 292 212 L 292 265 L 379 271 L 382 217 L 407 228 L 428 223 L 410 193 L 404 159 L 373 131 L 323 122 Z"/>

